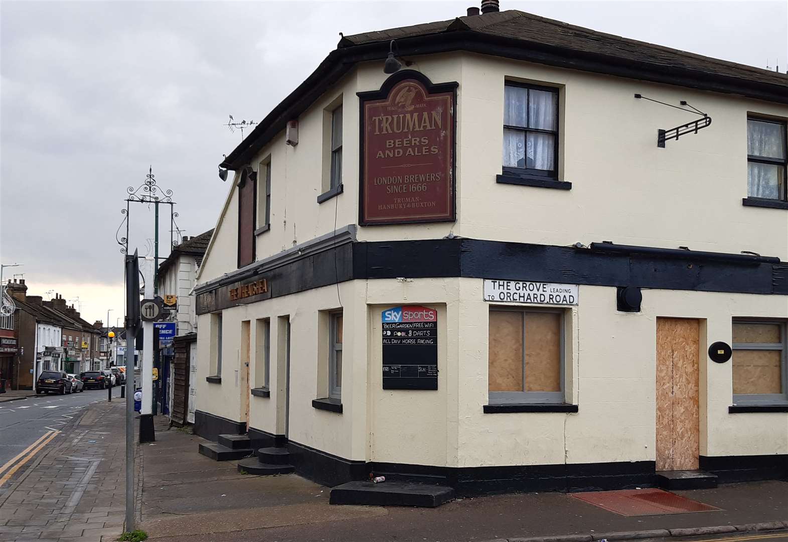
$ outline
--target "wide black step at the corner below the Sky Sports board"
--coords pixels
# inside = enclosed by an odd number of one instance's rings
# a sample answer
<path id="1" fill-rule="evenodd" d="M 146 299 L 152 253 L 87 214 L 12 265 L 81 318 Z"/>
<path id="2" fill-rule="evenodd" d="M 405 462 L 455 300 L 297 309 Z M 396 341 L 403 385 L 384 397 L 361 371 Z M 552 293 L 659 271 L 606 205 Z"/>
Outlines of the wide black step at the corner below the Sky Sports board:
<path id="1" fill-rule="evenodd" d="M 434 508 L 453 498 L 454 490 L 443 485 L 353 481 L 331 488 L 329 503 Z"/>

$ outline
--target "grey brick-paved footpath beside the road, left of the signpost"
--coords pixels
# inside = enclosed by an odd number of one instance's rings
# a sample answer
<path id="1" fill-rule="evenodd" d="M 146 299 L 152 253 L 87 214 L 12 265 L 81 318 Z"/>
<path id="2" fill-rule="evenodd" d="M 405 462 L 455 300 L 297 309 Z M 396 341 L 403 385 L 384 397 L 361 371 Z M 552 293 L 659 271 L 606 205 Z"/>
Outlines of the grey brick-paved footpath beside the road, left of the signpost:
<path id="1" fill-rule="evenodd" d="M 84 412 L 0 495 L 0 540 L 106 542 L 122 532 L 125 401 Z"/>

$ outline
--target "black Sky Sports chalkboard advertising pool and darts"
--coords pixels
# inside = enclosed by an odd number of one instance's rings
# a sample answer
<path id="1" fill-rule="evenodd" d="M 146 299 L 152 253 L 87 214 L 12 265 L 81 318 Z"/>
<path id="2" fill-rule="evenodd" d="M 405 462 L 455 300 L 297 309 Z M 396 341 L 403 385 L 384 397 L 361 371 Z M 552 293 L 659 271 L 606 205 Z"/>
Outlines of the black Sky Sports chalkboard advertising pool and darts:
<path id="1" fill-rule="evenodd" d="M 438 315 L 418 305 L 381 312 L 384 390 L 438 389 Z"/>

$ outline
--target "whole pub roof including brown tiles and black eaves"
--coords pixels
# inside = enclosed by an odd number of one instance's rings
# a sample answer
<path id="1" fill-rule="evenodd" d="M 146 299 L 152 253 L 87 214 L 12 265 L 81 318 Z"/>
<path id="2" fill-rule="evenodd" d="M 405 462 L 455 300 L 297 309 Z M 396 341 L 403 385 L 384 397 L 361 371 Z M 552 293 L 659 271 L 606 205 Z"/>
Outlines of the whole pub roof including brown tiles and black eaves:
<path id="1" fill-rule="evenodd" d="M 515 9 L 364 32 L 340 39 L 336 50 L 274 107 L 225 157 L 238 170 L 348 73 L 356 63 L 382 60 L 388 42 L 412 57 L 466 50 L 617 77 L 788 103 L 788 75 L 701 54 L 613 36 Z"/>

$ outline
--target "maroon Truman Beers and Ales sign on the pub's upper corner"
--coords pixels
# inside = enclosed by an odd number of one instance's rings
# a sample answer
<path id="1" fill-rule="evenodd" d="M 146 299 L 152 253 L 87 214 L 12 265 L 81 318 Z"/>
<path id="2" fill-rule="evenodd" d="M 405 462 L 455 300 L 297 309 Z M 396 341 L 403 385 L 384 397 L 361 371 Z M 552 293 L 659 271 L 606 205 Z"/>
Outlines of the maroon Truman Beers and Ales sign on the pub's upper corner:
<path id="1" fill-rule="evenodd" d="M 359 92 L 362 225 L 455 219 L 456 88 L 403 70 Z"/>

